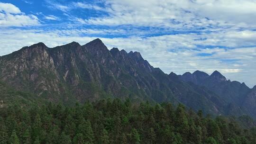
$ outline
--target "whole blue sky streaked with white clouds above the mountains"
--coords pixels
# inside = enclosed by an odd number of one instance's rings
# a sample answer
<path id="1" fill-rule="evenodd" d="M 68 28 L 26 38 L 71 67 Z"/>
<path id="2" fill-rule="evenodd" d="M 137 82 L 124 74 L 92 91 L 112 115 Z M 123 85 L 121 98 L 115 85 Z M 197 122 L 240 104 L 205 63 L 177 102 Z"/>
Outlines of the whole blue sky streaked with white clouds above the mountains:
<path id="1" fill-rule="evenodd" d="M 256 85 L 256 0 L 0 0 L 0 55 L 96 38 L 165 73 Z"/>

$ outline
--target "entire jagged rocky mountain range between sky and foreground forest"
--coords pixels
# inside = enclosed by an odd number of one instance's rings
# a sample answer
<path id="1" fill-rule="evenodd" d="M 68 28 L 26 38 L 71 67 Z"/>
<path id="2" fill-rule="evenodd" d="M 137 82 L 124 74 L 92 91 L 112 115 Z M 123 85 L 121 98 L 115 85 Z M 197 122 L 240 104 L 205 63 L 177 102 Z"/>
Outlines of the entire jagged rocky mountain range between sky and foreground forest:
<path id="1" fill-rule="evenodd" d="M 66 104 L 130 98 L 136 102 L 183 103 L 213 115 L 256 116 L 250 109 L 255 105 L 244 105 L 256 97 L 244 83 L 227 81 L 217 71 L 210 76 L 200 71 L 182 76 L 166 74 L 140 53 L 108 50 L 100 39 L 54 48 L 38 43 L 1 56 L 0 80 L 40 99 Z"/>

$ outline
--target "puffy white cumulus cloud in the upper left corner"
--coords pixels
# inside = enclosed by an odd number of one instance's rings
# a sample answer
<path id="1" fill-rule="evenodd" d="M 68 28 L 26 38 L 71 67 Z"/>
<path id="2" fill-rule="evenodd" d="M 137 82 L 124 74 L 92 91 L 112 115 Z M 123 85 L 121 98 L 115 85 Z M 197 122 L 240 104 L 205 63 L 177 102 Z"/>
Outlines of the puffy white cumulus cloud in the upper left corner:
<path id="1" fill-rule="evenodd" d="M 0 2 L 0 27 L 24 27 L 39 24 L 35 15 L 26 15 L 15 5 Z"/>

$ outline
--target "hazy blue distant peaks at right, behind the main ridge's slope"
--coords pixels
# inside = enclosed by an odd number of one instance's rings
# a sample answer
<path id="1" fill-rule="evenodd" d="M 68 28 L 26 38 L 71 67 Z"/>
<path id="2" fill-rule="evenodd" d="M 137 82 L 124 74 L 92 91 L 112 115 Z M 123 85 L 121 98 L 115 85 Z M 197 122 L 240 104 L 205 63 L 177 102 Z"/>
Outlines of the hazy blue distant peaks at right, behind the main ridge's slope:
<path id="1" fill-rule="evenodd" d="M 250 89 L 245 83 L 227 80 L 218 71 L 214 71 L 211 75 L 201 71 L 185 72 L 178 77 L 180 80 L 206 87 L 219 95 L 229 103 L 227 113 L 241 110 L 240 113 L 256 116 L 256 86 Z"/>

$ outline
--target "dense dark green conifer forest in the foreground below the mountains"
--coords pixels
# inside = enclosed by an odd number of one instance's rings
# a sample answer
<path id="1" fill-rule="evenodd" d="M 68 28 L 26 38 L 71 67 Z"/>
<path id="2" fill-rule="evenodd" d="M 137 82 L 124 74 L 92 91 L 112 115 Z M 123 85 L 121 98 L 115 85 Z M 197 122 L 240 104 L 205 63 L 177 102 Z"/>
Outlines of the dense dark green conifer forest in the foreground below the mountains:
<path id="1" fill-rule="evenodd" d="M 256 144 L 256 128 L 181 104 L 103 99 L 0 108 L 0 144 Z"/>

